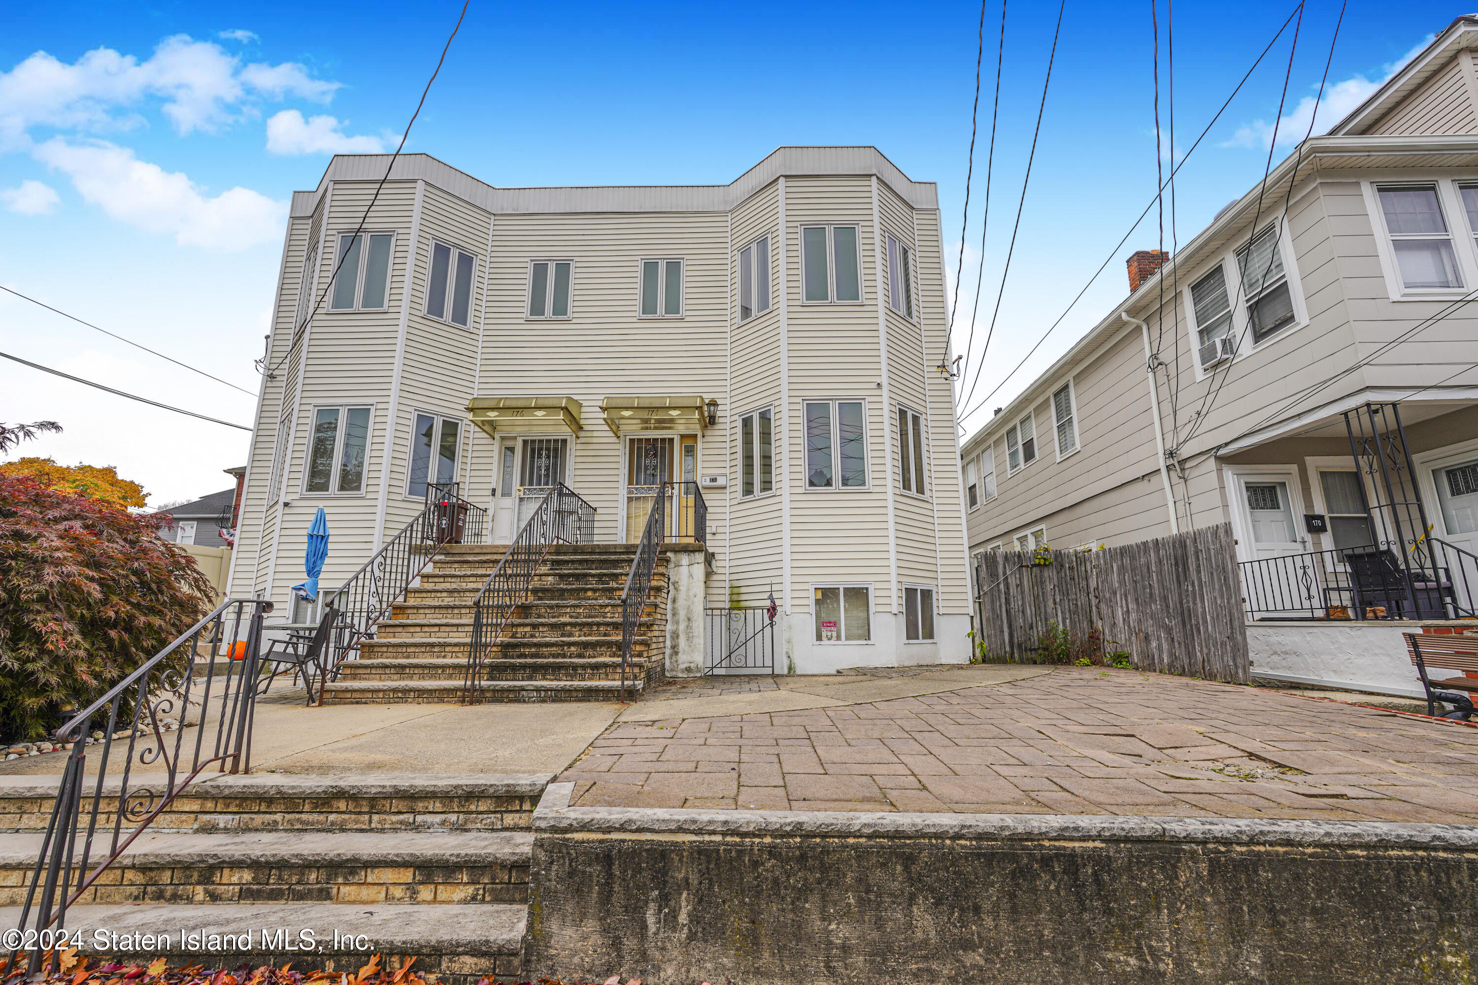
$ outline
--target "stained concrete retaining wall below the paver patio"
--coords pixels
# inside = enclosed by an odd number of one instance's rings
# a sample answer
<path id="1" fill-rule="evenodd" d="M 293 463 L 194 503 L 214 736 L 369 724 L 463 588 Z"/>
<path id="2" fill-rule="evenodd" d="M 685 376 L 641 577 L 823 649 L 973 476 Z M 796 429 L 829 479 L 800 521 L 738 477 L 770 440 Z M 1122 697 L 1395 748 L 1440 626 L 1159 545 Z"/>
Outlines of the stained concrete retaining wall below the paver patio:
<path id="1" fill-rule="evenodd" d="M 1478 827 L 535 812 L 523 973 L 649 985 L 1472 982 Z"/>

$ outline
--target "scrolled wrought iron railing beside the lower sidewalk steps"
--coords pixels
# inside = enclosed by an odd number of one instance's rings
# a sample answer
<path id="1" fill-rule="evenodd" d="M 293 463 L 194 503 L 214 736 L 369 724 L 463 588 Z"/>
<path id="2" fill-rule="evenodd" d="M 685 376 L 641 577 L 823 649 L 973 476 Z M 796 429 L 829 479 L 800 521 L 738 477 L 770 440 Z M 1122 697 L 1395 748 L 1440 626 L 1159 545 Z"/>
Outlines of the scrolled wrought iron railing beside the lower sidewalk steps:
<path id="1" fill-rule="evenodd" d="M 35 944 L 10 951 L 7 967 L 30 950 L 28 973 L 40 970 L 67 910 L 200 774 L 251 769 L 269 611 L 265 600 L 228 600 L 56 730 L 71 752 L 16 923 Z M 163 766 L 163 775 L 136 777 L 136 765 Z"/>

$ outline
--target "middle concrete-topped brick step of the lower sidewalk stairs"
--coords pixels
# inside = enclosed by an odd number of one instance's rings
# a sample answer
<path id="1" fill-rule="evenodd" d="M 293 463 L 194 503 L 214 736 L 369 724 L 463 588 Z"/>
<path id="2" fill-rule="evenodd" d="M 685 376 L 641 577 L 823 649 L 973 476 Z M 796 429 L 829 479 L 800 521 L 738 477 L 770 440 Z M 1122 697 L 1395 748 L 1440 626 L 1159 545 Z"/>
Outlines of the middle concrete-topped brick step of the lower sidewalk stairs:
<path id="1" fill-rule="evenodd" d="M 43 837 L 0 834 L 0 905 L 25 902 Z M 148 828 L 78 902 L 526 902 L 532 852 L 531 831 Z"/>

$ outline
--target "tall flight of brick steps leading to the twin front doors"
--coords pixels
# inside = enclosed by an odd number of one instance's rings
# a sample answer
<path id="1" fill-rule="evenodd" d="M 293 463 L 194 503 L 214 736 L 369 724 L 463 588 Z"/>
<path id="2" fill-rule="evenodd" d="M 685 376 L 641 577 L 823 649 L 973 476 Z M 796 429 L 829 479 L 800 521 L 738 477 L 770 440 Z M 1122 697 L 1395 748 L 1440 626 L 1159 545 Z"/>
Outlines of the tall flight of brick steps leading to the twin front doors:
<path id="1" fill-rule="evenodd" d="M 452 545 L 436 557 L 359 659 L 324 687 L 325 704 L 466 700 L 473 600 L 505 546 Z M 482 701 L 612 701 L 621 697 L 621 592 L 636 545 L 554 545 L 483 657 Z M 664 673 L 667 555 L 661 554 L 627 665 L 628 697 Z"/>

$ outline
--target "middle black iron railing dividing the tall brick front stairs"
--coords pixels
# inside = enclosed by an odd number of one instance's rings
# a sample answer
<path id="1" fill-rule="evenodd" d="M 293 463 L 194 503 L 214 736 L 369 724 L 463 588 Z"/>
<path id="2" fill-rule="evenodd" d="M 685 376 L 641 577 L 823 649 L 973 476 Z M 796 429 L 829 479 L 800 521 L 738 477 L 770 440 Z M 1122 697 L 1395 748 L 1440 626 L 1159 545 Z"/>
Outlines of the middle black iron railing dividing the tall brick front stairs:
<path id="1" fill-rule="evenodd" d="M 596 508 L 568 486 L 550 486 L 529 514 L 508 551 L 471 601 L 471 639 L 463 701 L 474 704 L 482 693 L 482 669 L 492 644 L 503 635 L 513 610 L 529 597 L 534 574 L 554 543 L 591 543 L 596 539 Z"/>

